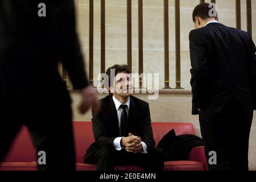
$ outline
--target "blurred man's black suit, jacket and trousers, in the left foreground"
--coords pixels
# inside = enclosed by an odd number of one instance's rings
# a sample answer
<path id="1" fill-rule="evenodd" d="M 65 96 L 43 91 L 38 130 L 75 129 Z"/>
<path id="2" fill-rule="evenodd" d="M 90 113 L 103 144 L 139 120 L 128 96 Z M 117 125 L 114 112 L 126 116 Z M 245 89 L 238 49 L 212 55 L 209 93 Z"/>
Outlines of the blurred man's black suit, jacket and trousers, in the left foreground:
<path id="1" fill-rule="evenodd" d="M 38 16 L 41 2 L 46 17 Z M 71 98 L 58 61 L 75 89 L 88 86 L 73 1 L 1 0 L 0 161 L 25 124 L 36 149 L 46 152 L 39 169 L 74 169 Z"/>

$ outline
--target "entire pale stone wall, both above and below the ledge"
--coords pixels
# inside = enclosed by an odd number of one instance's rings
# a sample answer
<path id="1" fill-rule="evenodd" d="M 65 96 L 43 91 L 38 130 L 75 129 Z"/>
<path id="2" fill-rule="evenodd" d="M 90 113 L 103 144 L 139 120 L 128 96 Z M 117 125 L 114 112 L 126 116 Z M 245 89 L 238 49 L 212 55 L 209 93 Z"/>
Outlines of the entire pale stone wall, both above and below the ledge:
<path id="1" fill-rule="evenodd" d="M 175 0 L 169 1 L 170 26 L 170 81 L 175 87 Z M 197 116 L 191 115 L 191 94 L 189 85 L 191 69 L 189 59 L 188 35 L 194 26 L 193 8 L 199 0 L 180 0 L 180 39 L 181 39 L 181 86 L 186 89 L 177 94 L 170 91 L 160 94 L 155 101 L 147 100 L 147 95 L 137 97 L 150 103 L 151 118 L 154 122 L 191 122 L 196 134 L 200 136 Z M 210 1 L 206 1 L 210 2 Z M 236 27 L 235 0 L 217 0 L 218 16 L 221 23 Z M 138 73 L 138 6 L 132 0 L 133 26 L 133 68 Z M 89 0 L 76 0 L 77 31 L 80 35 L 82 51 L 85 56 L 86 71 L 89 73 Z M 246 0 L 241 0 L 242 30 L 246 30 Z M 163 0 L 143 0 L 143 53 L 144 73 L 159 73 L 159 88 L 164 86 L 164 33 L 163 33 Z M 253 39 L 256 42 L 256 0 L 252 0 Z M 100 73 L 100 0 L 94 0 L 94 85 Z M 127 63 L 126 53 L 126 0 L 106 0 L 106 68 L 113 64 Z M 77 113 L 79 94 L 72 93 L 74 121 L 90 121 L 92 115 Z M 100 95 L 104 97 L 104 94 Z M 249 161 L 250 169 L 256 170 L 256 113 L 250 135 Z M 242 121 L 241 121 L 242 122 Z"/>

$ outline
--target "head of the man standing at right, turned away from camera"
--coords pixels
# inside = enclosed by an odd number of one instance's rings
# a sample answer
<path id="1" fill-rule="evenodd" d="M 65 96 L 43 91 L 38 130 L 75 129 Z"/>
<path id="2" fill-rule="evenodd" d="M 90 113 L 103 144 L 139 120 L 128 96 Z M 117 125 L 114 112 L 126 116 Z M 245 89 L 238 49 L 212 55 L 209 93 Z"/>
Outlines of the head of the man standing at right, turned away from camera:
<path id="1" fill-rule="evenodd" d="M 202 28 L 211 20 L 218 21 L 216 5 L 213 5 L 213 3 L 201 3 L 197 5 L 193 11 L 192 18 L 195 28 Z"/>

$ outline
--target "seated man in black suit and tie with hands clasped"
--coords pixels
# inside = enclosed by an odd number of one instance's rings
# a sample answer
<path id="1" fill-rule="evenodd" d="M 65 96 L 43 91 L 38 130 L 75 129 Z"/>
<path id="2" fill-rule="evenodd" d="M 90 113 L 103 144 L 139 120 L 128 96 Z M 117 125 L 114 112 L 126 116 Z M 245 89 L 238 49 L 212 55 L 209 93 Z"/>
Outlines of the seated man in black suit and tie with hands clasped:
<path id="1" fill-rule="evenodd" d="M 111 69 L 114 78 L 110 78 Z M 114 65 L 106 71 L 110 95 L 101 99 L 100 112 L 93 113 L 95 142 L 86 151 L 84 162 L 97 164 L 98 171 L 129 165 L 161 171 L 163 153 L 155 148 L 150 109 L 147 102 L 131 96 L 129 73 L 127 65 Z"/>

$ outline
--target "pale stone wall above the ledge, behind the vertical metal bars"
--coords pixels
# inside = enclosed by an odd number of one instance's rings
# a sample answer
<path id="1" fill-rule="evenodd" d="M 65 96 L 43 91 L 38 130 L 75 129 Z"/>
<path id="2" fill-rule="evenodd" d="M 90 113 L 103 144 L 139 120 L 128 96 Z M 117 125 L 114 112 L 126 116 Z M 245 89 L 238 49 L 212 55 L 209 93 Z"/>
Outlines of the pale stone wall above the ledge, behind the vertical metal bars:
<path id="1" fill-rule="evenodd" d="M 169 1 L 170 81 L 175 87 L 175 0 Z M 188 35 L 194 26 L 193 8 L 199 0 L 180 0 L 181 86 L 191 89 Z M 206 1 L 210 2 L 210 1 Z M 236 27 L 235 0 L 217 0 L 220 22 Z M 132 0 L 133 73 L 138 73 L 138 0 Z M 89 0 L 76 0 L 77 30 L 89 72 Z M 246 0 L 241 0 L 242 30 L 246 30 Z M 256 0 L 252 0 L 253 39 L 256 42 Z M 94 85 L 100 73 L 100 0 L 94 0 Z M 143 0 L 144 73 L 159 73 L 164 86 L 163 0 Z M 126 0 L 106 0 L 106 68 L 127 63 Z"/>

